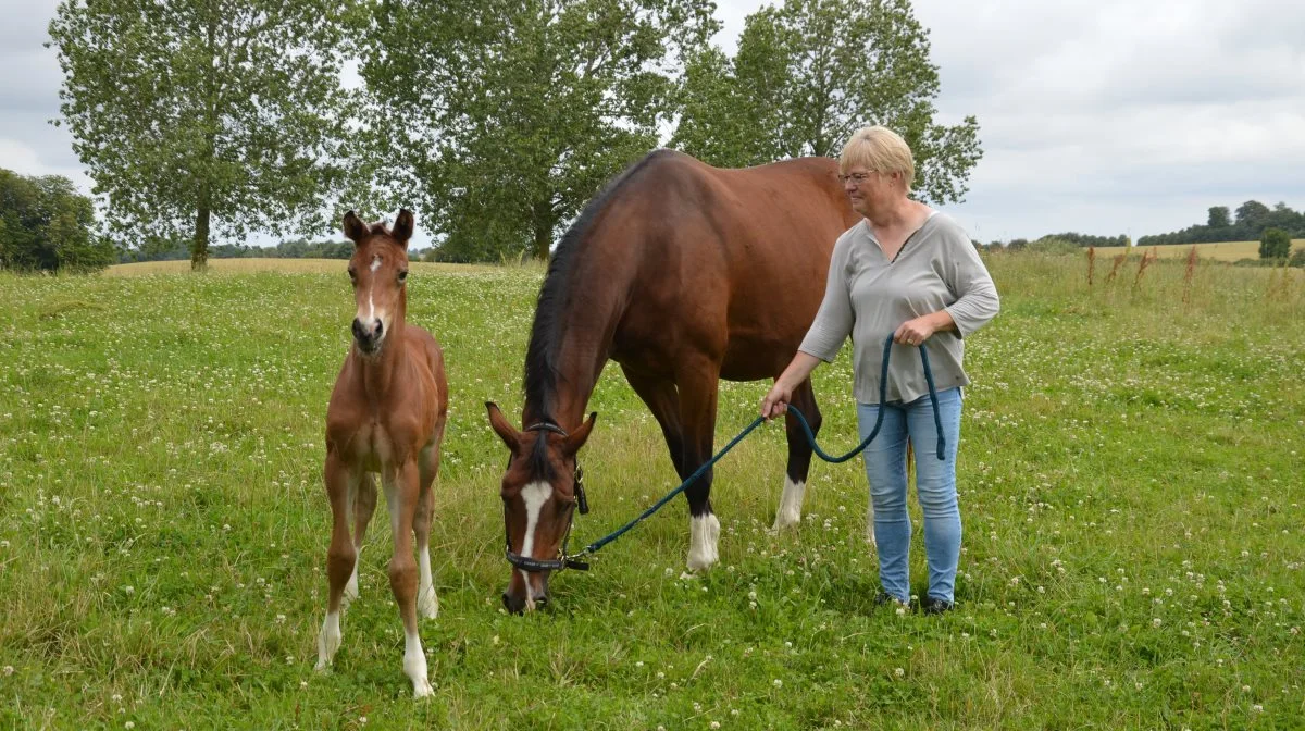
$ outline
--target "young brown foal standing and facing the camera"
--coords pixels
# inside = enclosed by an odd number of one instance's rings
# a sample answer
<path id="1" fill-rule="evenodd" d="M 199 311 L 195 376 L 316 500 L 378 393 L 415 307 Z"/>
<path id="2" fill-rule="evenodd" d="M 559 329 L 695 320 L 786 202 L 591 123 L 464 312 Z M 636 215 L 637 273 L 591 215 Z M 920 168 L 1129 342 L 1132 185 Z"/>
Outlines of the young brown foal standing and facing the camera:
<path id="1" fill-rule="evenodd" d="M 358 556 L 376 509 L 372 475 L 378 473 L 394 534 L 389 573 L 403 620 L 403 672 L 420 698 L 433 692 L 418 634 L 418 614 L 435 619 L 440 611 L 431 577 L 435 508 L 431 483 L 440 469 L 449 386 L 438 342 L 431 333 L 405 321 L 412 213 L 401 210 L 393 230 L 381 223 L 368 226 L 354 211 L 345 214 L 343 223 L 345 235 L 355 245 L 348 278 L 358 309 L 354 342 L 326 407 L 330 594 L 326 620 L 317 637 L 317 670 L 330 667 L 339 649 L 342 603 L 358 598 Z M 414 534 L 420 563 L 412 560 Z"/>

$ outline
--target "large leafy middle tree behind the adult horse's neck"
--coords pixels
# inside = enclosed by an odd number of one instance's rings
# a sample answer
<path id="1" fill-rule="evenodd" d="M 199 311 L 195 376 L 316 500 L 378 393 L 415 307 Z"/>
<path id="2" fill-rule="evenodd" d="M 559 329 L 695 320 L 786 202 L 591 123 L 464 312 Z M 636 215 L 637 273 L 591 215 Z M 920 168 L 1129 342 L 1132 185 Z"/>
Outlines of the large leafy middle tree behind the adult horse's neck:
<path id="1" fill-rule="evenodd" d="M 547 258 L 603 181 L 656 145 L 710 0 L 381 0 L 361 44 L 386 205 L 452 261 Z"/>

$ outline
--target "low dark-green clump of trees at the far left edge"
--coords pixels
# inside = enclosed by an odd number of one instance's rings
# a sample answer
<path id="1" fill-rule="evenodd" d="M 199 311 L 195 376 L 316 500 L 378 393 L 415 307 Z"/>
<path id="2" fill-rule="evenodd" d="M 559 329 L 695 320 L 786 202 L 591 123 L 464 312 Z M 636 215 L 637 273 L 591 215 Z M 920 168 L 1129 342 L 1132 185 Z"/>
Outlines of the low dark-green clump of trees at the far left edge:
<path id="1" fill-rule="evenodd" d="M 94 272 L 114 262 L 114 245 L 94 235 L 91 200 L 72 180 L 0 170 L 0 268 Z"/>

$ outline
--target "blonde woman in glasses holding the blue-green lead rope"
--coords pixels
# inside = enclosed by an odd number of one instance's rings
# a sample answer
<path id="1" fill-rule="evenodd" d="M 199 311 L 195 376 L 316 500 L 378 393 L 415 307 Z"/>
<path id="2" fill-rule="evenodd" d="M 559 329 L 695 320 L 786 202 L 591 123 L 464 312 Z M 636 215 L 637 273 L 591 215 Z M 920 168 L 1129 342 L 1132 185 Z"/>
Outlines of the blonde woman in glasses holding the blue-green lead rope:
<path id="1" fill-rule="evenodd" d="M 874 508 L 880 556 L 877 603 L 910 604 L 911 517 L 907 513 L 907 439 L 915 446 L 916 492 L 924 513 L 929 587 L 928 614 L 949 611 L 955 600 L 960 559 L 957 505 L 957 445 L 960 437 L 963 337 L 997 315 L 997 288 L 974 244 L 955 221 L 908 197 L 915 179 L 911 148 L 883 127 L 857 131 L 839 157 L 839 178 L 864 221 L 834 245 L 825 300 L 797 355 L 761 402 L 761 415 L 782 415 L 793 388 L 821 360 L 838 355 L 851 335 L 853 396 L 861 439 L 881 409 L 880 435 L 867 446 L 865 475 Z M 883 342 L 893 335 L 885 403 L 880 403 Z M 919 354 L 925 347 L 938 389 L 946 440 L 945 459 L 934 458 L 937 433 Z"/>

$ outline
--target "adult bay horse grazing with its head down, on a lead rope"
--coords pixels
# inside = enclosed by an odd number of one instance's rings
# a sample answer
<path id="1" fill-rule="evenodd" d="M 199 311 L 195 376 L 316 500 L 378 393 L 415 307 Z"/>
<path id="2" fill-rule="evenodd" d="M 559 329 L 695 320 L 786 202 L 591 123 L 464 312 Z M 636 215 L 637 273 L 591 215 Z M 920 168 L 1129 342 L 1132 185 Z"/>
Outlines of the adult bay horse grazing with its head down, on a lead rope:
<path id="1" fill-rule="evenodd" d="M 547 600 L 573 512 L 585 407 L 616 360 L 666 439 L 680 479 L 711 458 L 719 379 L 774 379 L 797 351 L 825 292 L 838 236 L 860 217 L 831 158 L 743 170 L 656 150 L 591 200 L 559 243 L 539 291 L 517 431 L 488 402 L 512 452 L 501 497 L 510 612 Z M 792 403 L 820 431 L 810 381 Z M 812 449 L 787 416 L 788 470 L 775 529 L 793 525 Z M 685 490 L 689 570 L 718 560 L 711 471 Z"/>

